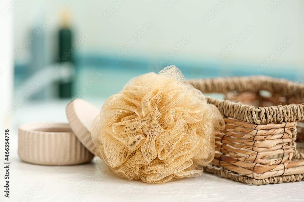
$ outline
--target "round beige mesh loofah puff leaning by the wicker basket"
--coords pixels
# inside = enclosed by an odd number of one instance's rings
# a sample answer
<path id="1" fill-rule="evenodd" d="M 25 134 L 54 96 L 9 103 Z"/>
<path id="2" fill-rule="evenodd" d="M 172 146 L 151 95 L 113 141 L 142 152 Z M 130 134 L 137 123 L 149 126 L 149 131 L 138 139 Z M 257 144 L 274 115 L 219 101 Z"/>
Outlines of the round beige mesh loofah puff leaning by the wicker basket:
<path id="1" fill-rule="evenodd" d="M 218 109 L 175 66 L 131 79 L 92 124 L 96 155 L 123 178 L 163 183 L 199 176 L 224 127 Z"/>

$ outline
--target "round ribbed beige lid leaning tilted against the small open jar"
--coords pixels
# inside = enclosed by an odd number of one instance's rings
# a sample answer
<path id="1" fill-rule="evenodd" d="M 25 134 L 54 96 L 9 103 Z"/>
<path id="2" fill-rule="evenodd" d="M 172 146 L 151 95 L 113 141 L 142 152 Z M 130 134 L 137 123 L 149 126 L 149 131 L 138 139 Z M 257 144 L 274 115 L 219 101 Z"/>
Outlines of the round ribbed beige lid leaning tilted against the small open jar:
<path id="1" fill-rule="evenodd" d="M 67 120 L 70 127 L 77 136 L 78 140 L 90 151 L 95 154 L 90 127 L 100 110 L 85 100 L 76 98 L 65 108 Z"/>

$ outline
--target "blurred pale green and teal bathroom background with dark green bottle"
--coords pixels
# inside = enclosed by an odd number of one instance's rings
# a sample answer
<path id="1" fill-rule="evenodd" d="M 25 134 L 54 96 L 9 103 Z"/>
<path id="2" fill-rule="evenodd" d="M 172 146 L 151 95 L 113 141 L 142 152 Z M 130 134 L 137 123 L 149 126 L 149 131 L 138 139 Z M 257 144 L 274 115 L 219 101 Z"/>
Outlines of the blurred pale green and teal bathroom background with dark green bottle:
<path id="1" fill-rule="evenodd" d="M 4 123 L 66 121 L 72 99 L 101 108 L 131 78 L 168 65 L 186 78 L 303 82 L 302 8 L 301 0 L 4 0 Z"/>

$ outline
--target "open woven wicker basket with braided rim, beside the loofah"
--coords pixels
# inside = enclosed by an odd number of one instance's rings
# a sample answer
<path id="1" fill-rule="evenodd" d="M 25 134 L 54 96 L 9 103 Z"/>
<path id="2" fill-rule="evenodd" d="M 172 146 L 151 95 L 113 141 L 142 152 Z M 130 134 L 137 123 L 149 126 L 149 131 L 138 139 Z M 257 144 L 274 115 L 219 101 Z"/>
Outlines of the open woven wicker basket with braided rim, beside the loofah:
<path id="1" fill-rule="evenodd" d="M 304 84 L 265 76 L 187 82 L 225 95 L 207 97 L 226 128 L 205 171 L 256 185 L 304 180 Z"/>

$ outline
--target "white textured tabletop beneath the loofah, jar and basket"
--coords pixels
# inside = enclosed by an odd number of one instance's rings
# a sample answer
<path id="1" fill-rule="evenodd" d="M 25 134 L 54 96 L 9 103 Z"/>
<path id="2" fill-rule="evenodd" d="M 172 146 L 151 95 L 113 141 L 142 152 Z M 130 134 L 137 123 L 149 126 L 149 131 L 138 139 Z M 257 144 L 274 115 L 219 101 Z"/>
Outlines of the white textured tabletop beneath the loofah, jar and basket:
<path id="1" fill-rule="evenodd" d="M 92 103 L 98 108 L 102 105 Z M 165 184 L 147 184 L 102 173 L 95 158 L 88 164 L 62 167 L 22 162 L 17 155 L 18 125 L 32 121 L 66 122 L 66 104 L 67 101 L 24 103 L 13 113 L 10 198 L 3 196 L 1 166 L 0 201 L 304 201 L 304 181 L 254 186 L 203 173 Z"/>

